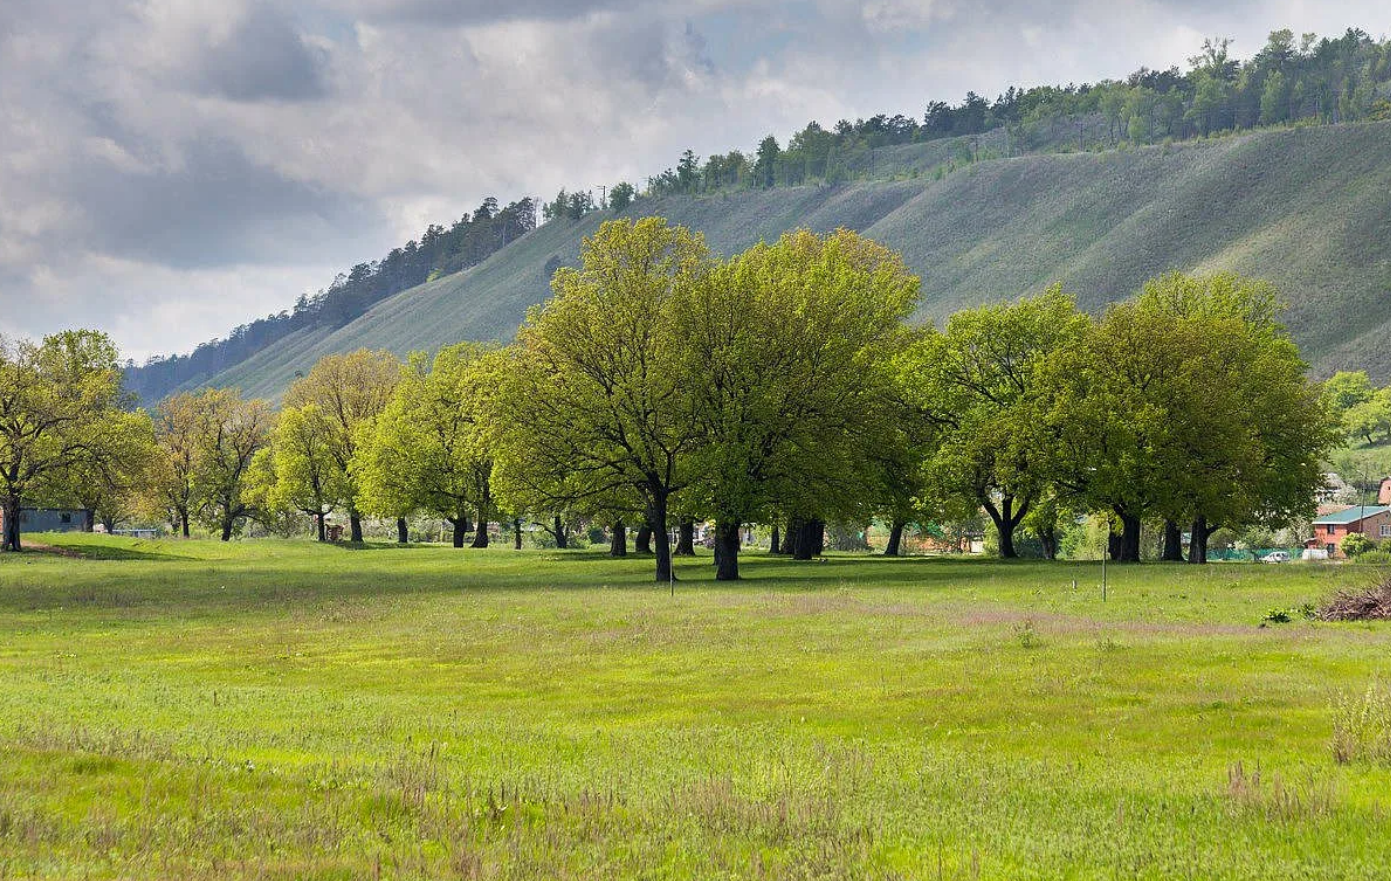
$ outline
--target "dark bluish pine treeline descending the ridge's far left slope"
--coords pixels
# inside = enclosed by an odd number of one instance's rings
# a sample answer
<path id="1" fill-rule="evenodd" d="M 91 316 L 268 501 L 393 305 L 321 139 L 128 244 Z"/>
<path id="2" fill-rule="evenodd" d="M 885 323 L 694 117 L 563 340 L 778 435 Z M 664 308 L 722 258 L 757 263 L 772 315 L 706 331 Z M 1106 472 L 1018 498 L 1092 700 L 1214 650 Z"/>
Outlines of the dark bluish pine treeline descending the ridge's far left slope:
<path id="1" fill-rule="evenodd" d="M 392 248 L 381 260 L 359 263 L 348 273 L 339 273 L 317 294 L 300 294 L 294 309 L 241 324 L 225 340 L 203 342 L 188 355 L 154 356 L 140 366 L 127 362 L 127 390 L 143 401 L 157 401 L 181 386 L 199 383 L 241 363 L 292 333 L 341 327 L 392 294 L 481 263 L 534 228 L 536 205 L 531 199 L 498 207 L 498 200 L 488 196 L 448 230 L 430 224 L 419 242 L 406 242 L 402 248 Z"/>

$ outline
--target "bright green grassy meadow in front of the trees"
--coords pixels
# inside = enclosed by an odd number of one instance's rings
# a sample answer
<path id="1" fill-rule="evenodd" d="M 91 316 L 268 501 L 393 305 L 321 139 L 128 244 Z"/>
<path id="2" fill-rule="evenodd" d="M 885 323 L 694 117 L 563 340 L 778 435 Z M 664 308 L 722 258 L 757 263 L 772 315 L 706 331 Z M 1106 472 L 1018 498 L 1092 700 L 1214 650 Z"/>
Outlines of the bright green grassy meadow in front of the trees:
<path id="1" fill-rule="evenodd" d="M 50 536 L 0 878 L 1384 878 L 1366 571 Z M 1075 579 L 1075 587 L 1074 587 Z"/>

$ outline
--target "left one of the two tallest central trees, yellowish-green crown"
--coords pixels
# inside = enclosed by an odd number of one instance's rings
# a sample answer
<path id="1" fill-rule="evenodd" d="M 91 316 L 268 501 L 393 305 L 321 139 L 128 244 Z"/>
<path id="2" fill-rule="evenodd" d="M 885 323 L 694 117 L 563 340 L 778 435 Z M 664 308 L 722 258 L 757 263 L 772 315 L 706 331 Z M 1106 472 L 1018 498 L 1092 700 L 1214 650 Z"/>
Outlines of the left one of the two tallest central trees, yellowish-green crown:
<path id="1" fill-rule="evenodd" d="M 647 217 L 605 223 L 580 259 L 556 271 L 554 296 L 527 313 L 501 372 L 498 469 L 506 484 L 552 487 L 556 504 L 637 493 L 665 582 L 668 511 L 700 437 L 672 305 L 701 283 L 709 256 L 700 235 Z"/>

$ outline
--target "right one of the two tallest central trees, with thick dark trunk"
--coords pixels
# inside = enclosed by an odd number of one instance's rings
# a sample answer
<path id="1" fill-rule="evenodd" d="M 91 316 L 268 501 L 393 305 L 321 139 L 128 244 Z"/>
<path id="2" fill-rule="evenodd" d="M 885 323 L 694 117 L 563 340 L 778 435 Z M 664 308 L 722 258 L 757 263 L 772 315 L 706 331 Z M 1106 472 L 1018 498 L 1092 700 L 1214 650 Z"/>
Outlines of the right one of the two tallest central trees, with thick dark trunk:
<path id="1" fill-rule="evenodd" d="M 715 521 L 716 578 L 739 578 L 746 522 L 874 504 L 892 356 L 917 302 L 901 257 L 854 232 L 789 232 L 676 301 L 698 426 L 689 493 Z"/>

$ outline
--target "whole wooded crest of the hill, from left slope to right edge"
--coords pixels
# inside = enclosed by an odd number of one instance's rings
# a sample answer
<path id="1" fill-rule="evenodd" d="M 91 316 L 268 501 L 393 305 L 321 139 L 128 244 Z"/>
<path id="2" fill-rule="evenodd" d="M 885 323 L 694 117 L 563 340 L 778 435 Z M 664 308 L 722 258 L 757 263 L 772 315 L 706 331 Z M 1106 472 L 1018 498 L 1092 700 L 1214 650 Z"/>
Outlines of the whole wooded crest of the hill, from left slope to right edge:
<path id="1" fill-rule="evenodd" d="M 595 212 L 643 210 L 645 202 L 680 196 L 874 180 L 938 181 L 992 159 L 1171 143 L 1255 127 L 1380 120 L 1391 120 L 1391 43 L 1349 29 L 1335 39 L 1276 31 L 1245 61 L 1231 57 L 1228 40 L 1209 40 L 1187 72 L 1141 68 L 1117 81 L 1010 88 L 993 102 L 971 92 L 957 104 L 928 102 L 921 120 L 879 114 L 829 128 L 814 121 L 786 145 L 769 135 L 750 153 L 734 149 L 702 160 L 686 150 L 673 168 L 648 177 L 641 189 L 619 181 L 506 207 L 490 198 L 449 228 L 430 225 L 419 241 L 353 266 L 325 289 L 302 294 L 292 309 L 242 324 L 225 340 L 142 366 L 128 362 L 127 386 L 154 401 L 242 369 L 277 342 L 294 342 L 288 338 L 300 331 L 321 340 L 402 291 L 484 262 L 534 230 L 537 214 L 547 223 L 572 223 Z M 662 210 L 670 213 L 670 207 Z M 786 220 L 772 231 L 804 223 Z M 552 255 L 547 267 L 554 270 L 565 259 Z M 533 287 L 540 296 L 544 278 Z M 1337 366 L 1346 366 L 1346 359 Z"/>

